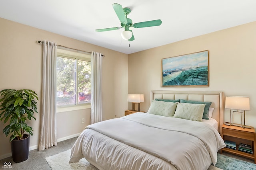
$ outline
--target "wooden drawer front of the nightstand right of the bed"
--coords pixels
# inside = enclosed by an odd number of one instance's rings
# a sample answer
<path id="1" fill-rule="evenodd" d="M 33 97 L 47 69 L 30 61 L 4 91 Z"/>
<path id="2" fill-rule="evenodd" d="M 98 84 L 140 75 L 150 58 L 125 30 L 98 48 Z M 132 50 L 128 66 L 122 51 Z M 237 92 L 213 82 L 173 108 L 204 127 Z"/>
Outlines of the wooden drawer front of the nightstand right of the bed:
<path id="1" fill-rule="evenodd" d="M 252 132 L 237 131 L 237 130 L 234 130 L 234 129 L 222 128 L 222 134 L 232 136 L 232 137 L 247 139 L 247 140 L 250 140 L 250 141 L 255 140 L 255 136 L 254 136 L 255 133 L 252 133 Z"/>

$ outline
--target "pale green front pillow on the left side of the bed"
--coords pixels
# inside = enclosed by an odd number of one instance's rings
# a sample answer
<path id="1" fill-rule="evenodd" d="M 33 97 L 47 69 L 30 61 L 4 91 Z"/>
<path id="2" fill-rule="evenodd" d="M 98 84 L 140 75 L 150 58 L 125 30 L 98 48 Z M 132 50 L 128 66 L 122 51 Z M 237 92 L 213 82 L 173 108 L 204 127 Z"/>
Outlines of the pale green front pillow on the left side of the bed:
<path id="1" fill-rule="evenodd" d="M 152 100 L 148 109 L 149 114 L 173 117 L 177 103 Z"/>

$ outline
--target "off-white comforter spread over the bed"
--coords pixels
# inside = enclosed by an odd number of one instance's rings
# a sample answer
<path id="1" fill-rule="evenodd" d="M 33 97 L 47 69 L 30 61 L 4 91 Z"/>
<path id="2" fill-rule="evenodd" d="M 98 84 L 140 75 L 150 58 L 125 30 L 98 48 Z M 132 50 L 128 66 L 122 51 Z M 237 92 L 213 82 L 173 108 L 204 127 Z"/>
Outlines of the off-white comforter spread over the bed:
<path id="1" fill-rule="evenodd" d="M 102 170 L 207 170 L 223 147 L 205 123 L 134 113 L 86 127 L 69 163 L 85 157 Z"/>

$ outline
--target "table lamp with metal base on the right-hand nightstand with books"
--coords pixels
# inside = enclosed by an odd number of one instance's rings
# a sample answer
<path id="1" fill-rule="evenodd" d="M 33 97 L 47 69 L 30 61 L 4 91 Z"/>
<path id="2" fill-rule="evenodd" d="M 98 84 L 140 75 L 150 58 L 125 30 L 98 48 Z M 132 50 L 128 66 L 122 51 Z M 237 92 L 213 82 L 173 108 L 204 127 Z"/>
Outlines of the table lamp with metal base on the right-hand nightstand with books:
<path id="1" fill-rule="evenodd" d="M 225 125 L 239 126 L 242 128 L 249 128 L 249 129 L 252 128 L 251 126 L 245 125 L 245 111 L 250 110 L 250 101 L 248 96 L 226 96 L 225 108 L 230 109 L 230 122 L 226 122 Z M 234 123 L 234 113 L 241 113 L 241 124 Z M 243 123 L 243 113 L 244 113 L 244 123 Z"/>

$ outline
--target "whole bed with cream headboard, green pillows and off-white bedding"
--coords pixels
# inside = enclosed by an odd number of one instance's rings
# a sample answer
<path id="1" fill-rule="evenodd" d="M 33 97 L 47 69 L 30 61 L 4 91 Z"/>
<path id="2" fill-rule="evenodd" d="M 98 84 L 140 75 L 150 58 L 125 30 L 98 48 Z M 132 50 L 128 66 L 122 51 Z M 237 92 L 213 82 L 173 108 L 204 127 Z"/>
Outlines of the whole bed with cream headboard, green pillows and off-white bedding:
<path id="1" fill-rule="evenodd" d="M 147 113 L 87 126 L 71 149 L 69 163 L 86 158 L 100 170 L 207 170 L 215 164 L 218 150 L 225 147 L 219 134 L 223 92 L 156 90 L 150 96 Z M 191 121 L 202 120 L 206 104 L 214 108 L 207 123 Z"/>

